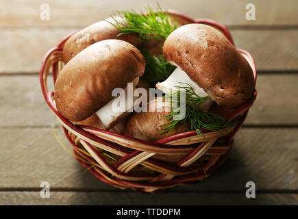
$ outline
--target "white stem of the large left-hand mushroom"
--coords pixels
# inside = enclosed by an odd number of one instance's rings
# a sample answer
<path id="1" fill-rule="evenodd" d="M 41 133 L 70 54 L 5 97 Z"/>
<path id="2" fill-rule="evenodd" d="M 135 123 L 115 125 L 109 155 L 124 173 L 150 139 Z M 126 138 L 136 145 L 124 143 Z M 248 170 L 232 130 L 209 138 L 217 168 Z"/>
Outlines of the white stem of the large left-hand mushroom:
<path id="1" fill-rule="evenodd" d="M 112 99 L 96 112 L 105 129 L 111 129 L 126 114 L 133 112 L 134 102 L 138 99 L 138 97 L 133 96 L 138 80 L 139 77 L 134 79 L 132 83 L 128 83 L 127 87 L 122 91 L 121 88 L 118 88 L 119 92 L 116 91 L 116 94 L 119 94 L 119 96 Z"/>

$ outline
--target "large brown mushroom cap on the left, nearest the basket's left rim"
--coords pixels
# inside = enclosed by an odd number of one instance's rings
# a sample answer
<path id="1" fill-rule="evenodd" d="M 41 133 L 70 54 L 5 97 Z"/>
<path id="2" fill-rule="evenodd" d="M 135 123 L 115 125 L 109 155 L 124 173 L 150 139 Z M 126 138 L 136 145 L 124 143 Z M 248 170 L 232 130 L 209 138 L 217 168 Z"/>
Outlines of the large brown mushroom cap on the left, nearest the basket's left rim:
<path id="1" fill-rule="evenodd" d="M 112 100 L 114 88 L 125 88 L 142 75 L 145 60 L 123 40 L 103 40 L 87 47 L 64 68 L 55 83 L 55 103 L 62 116 L 84 120 Z"/>

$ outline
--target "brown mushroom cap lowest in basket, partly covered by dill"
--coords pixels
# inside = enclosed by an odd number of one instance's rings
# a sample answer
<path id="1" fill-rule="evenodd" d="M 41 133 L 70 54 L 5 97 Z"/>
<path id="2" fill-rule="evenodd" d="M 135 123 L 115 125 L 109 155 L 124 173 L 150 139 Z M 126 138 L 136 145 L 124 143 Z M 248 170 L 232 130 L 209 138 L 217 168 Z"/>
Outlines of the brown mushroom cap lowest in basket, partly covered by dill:
<path id="1" fill-rule="evenodd" d="M 186 131 L 187 127 L 179 126 L 175 127 L 171 133 L 160 133 L 162 132 L 160 125 L 169 123 L 169 120 L 164 118 L 170 113 L 169 104 L 169 102 L 162 101 L 162 97 L 150 101 L 147 104 L 147 112 L 134 113 L 129 116 L 123 135 L 154 142 Z"/>

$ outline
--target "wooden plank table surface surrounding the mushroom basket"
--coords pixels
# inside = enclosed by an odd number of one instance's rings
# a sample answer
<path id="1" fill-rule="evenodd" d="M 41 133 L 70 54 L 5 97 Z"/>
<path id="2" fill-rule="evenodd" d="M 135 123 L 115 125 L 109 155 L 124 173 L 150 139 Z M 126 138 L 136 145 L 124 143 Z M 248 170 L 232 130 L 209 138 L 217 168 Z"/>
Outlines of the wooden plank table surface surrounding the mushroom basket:
<path id="1" fill-rule="evenodd" d="M 82 168 L 55 140 L 52 125 L 71 149 L 38 80 L 42 58 L 63 36 L 114 10 L 153 3 L 46 2 L 49 21 L 40 20 L 40 1 L 0 3 L 1 205 L 298 204 L 298 1 L 160 0 L 163 8 L 227 25 L 258 68 L 258 99 L 225 164 L 206 181 L 161 194 L 119 190 Z M 245 19 L 248 2 L 256 21 Z M 42 181 L 50 198 L 40 198 Z M 246 198 L 247 181 L 256 183 L 256 198 Z"/>

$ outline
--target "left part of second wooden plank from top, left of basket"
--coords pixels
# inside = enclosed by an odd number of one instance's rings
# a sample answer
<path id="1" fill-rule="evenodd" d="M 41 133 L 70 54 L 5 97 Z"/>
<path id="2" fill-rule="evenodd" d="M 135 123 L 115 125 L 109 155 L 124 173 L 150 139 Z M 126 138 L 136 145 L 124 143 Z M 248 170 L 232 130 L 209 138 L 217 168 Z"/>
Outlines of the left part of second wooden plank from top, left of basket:
<path id="1" fill-rule="evenodd" d="M 38 73 L 47 51 L 73 31 L 73 28 L 2 29 L 0 73 Z"/>

